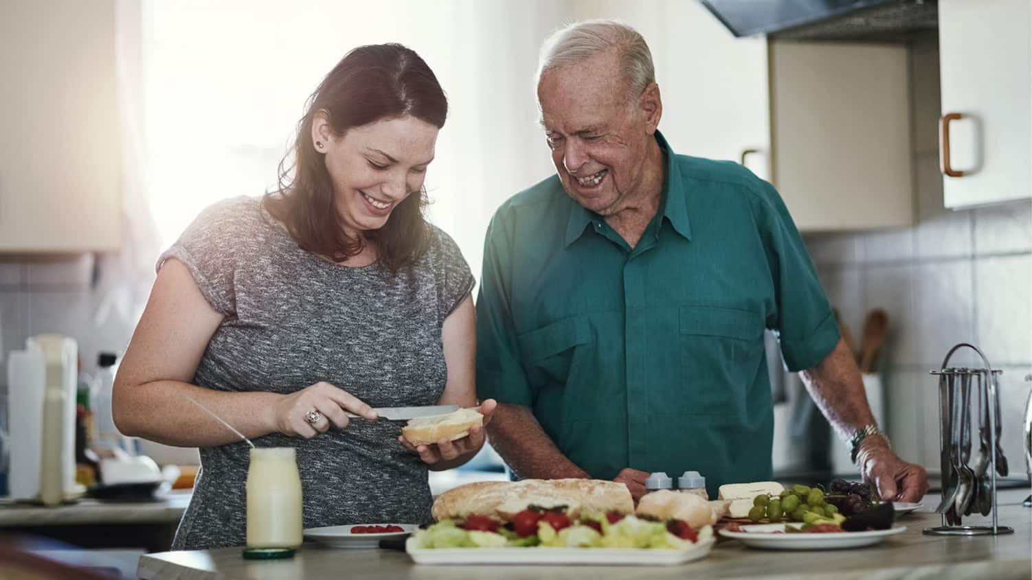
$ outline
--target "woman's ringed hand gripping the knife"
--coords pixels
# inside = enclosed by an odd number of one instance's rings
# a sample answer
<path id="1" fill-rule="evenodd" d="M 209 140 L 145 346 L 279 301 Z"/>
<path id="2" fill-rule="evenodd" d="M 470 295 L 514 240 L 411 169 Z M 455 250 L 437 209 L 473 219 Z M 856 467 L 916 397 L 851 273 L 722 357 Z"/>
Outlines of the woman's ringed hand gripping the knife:
<path id="1" fill-rule="evenodd" d="M 348 427 L 349 419 L 345 411 L 370 420 L 377 418 L 372 407 L 328 382 L 317 382 L 297 393 L 284 395 L 272 408 L 276 431 L 305 439 L 326 433 L 331 427 Z M 310 422 L 310 413 L 313 416 L 318 414 L 318 420 Z"/>

